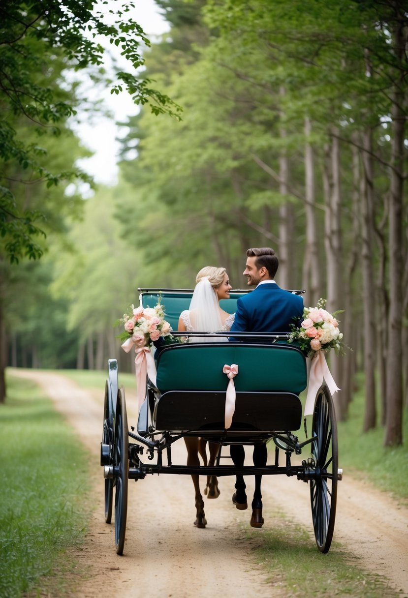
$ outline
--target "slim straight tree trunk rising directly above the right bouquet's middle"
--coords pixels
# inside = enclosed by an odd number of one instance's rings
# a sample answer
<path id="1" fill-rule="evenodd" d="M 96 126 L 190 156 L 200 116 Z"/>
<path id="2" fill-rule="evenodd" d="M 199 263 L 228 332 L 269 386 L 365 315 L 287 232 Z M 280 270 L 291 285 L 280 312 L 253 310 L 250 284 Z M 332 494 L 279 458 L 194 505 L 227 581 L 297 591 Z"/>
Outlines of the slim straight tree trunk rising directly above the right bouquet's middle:
<path id="1" fill-rule="evenodd" d="M 307 303 L 316 305 L 320 293 L 319 245 L 315 206 L 315 159 L 309 142 L 312 132 L 309 118 L 305 119 L 305 192 L 306 192 L 306 248 L 303 260 L 303 288 L 306 289 Z"/>

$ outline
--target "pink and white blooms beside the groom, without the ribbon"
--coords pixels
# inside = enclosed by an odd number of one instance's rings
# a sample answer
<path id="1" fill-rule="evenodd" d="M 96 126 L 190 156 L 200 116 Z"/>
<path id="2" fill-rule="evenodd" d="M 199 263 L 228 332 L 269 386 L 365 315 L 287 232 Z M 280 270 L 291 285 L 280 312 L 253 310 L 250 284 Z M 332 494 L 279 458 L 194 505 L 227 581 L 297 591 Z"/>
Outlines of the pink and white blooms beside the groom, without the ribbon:
<path id="1" fill-rule="evenodd" d="M 300 349 L 307 351 L 308 357 L 314 357 L 319 351 L 327 352 L 334 349 L 336 353 L 343 353 L 343 334 L 339 330 L 339 322 L 334 317 L 337 313 L 331 314 L 324 307 L 325 299 L 319 299 L 316 307 L 305 307 L 303 309 L 303 321 L 300 328 L 291 324 L 289 342 L 297 341 Z"/>

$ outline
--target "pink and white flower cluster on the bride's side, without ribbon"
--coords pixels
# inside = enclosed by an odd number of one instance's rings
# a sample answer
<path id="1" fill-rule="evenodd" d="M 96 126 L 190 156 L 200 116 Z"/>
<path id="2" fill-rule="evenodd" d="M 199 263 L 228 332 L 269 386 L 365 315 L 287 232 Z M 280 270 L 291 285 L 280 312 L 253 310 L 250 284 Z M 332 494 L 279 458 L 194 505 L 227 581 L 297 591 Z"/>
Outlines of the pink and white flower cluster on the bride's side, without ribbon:
<path id="1" fill-rule="evenodd" d="M 159 340 L 160 337 L 171 337 L 172 328 L 165 320 L 165 312 L 160 303 L 156 307 L 131 305 L 129 313 L 124 313 L 119 322 L 125 329 L 120 339 L 123 341 L 132 339 L 136 347 L 150 347 L 153 341 Z"/>

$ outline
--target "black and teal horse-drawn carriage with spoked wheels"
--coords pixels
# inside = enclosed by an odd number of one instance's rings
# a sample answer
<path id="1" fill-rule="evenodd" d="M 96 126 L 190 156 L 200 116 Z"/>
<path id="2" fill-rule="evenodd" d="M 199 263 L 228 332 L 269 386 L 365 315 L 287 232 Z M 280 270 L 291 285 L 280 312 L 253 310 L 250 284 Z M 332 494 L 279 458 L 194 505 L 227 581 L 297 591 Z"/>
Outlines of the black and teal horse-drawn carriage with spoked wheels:
<path id="1" fill-rule="evenodd" d="M 193 293 L 188 289 L 139 288 L 138 291 L 142 307 L 154 307 L 161 301 L 166 321 L 173 330 L 178 327 L 179 314 L 188 309 Z M 220 301 L 221 308 L 235 312 L 236 301 L 245 292 L 248 291 L 231 291 L 229 299 Z M 312 428 L 307 437 L 306 417 L 303 418 L 299 398 L 307 386 L 306 359 L 296 344 L 288 343 L 288 334 L 234 332 L 233 338 L 228 334 L 226 343 L 220 342 L 222 333 L 217 332 L 208 334 L 211 341 L 207 343 L 194 342 L 194 337 L 204 334 L 182 332 L 184 337 L 190 337 L 188 343 L 168 344 L 157 352 L 156 384 L 147 376 L 138 421 L 131 429 L 127 425 L 124 388 L 118 385 L 117 360 L 109 359 L 101 465 L 105 478 L 105 521 L 111 523 L 114 511 L 117 554 L 123 554 L 124 549 L 128 480 L 142 480 L 147 474 L 296 476 L 309 483 L 316 545 L 319 551 L 327 553 L 334 532 L 337 481 L 342 479 L 342 470 L 338 468 L 336 417 L 327 385 L 323 383 L 316 392 Z M 228 427 L 226 397 L 230 380 L 223 373 L 225 364 L 239 365 L 239 374 L 234 379 L 232 423 Z M 299 431 L 302 422 L 306 440 L 300 442 L 294 432 Z M 220 446 L 214 465 L 173 464 L 173 443 L 188 436 Z M 221 465 L 223 447 L 270 440 L 275 445 L 272 464 L 242 468 Z M 309 456 L 300 465 L 293 465 L 291 457 L 302 454 L 303 449 L 307 449 Z"/>

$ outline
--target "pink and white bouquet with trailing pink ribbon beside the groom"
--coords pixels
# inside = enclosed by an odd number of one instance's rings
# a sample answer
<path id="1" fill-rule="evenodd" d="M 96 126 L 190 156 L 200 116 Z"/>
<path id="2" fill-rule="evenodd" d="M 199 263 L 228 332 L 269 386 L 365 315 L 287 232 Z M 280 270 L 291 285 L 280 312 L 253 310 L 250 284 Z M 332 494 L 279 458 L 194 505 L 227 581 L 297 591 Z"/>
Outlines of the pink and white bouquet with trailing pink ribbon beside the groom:
<path id="1" fill-rule="evenodd" d="M 332 395 L 340 390 L 331 376 L 324 353 L 334 349 L 337 355 L 344 354 L 343 334 L 339 330 L 339 322 L 334 317 L 344 310 L 332 314 L 324 309 L 325 304 L 325 299 L 319 299 L 316 307 L 305 307 L 300 327 L 296 324 L 290 325 L 288 343 L 297 341 L 300 349 L 311 358 L 305 416 L 313 413 L 315 396 L 324 380 Z"/>

